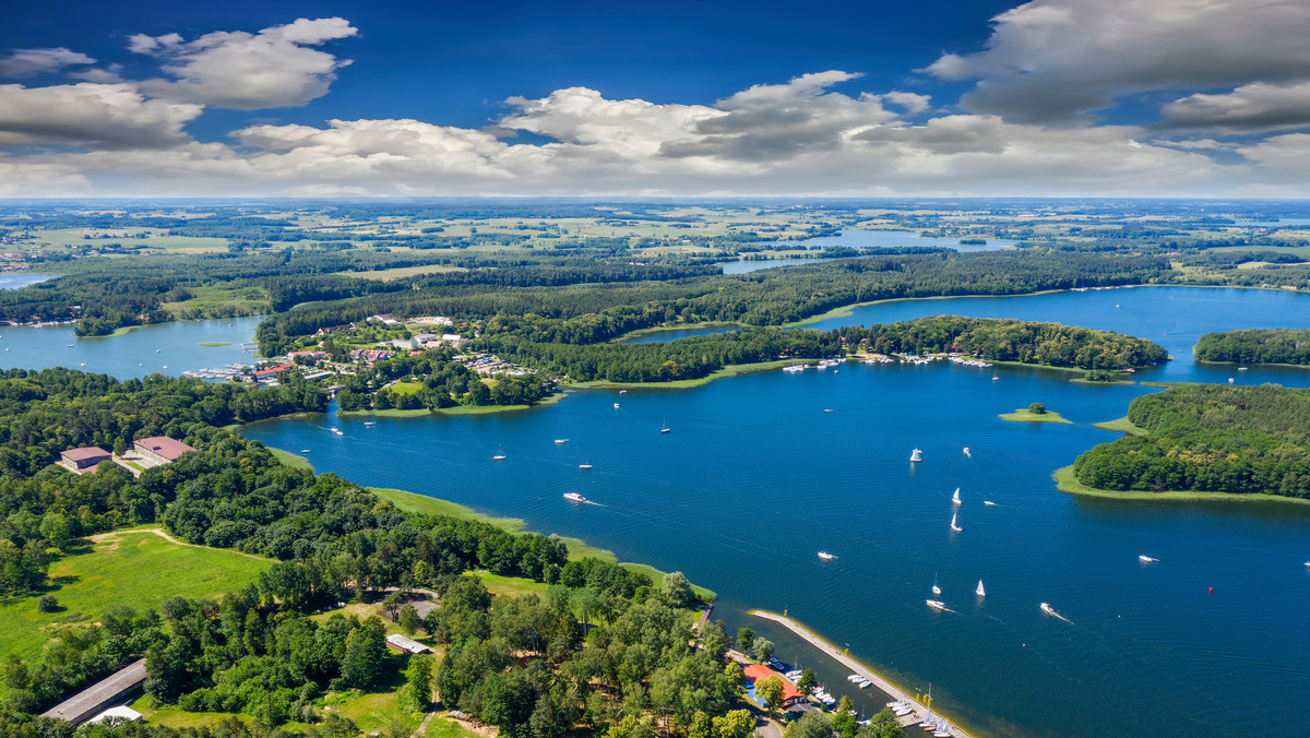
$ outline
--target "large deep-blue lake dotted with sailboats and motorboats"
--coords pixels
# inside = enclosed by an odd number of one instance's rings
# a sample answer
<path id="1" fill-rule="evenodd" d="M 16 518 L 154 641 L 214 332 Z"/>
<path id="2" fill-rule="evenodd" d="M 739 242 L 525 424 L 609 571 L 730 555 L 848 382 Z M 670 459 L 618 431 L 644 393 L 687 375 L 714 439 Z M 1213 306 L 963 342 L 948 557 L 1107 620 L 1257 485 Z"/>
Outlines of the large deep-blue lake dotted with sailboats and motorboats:
<path id="1" fill-rule="evenodd" d="M 1138 379 L 1310 385 L 1310 371 L 1189 359 L 1207 330 L 1310 325 L 1305 295 L 1136 288 L 884 303 L 820 326 L 943 312 L 1163 342 L 1176 360 Z M 1116 438 L 1091 423 L 1154 389 L 1073 384 L 1028 367 L 992 374 L 844 364 L 684 391 L 584 391 L 516 413 L 373 426 L 314 416 L 244 433 L 308 448 L 320 472 L 521 516 L 685 572 L 719 592 L 715 616 L 730 632 L 766 634 L 779 658 L 815 669 L 866 714 L 879 695 L 748 611 L 786 610 L 904 688 L 931 686 L 934 705 L 981 735 L 1212 735 L 1256 724 L 1297 733 L 1286 726 L 1310 708 L 1310 507 L 1065 495 L 1051 472 Z M 1073 423 L 997 418 L 1034 401 Z M 672 433 L 662 435 L 663 423 Z M 924 461 L 909 463 L 913 447 Z M 493 461 L 500 448 L 507 459 Z M 579 469 L 583 460 L 595 468 Z M 955 488 L 959 534 L 948 528 Z M 569 492 L 592 503 L 563 501 Z M 934 577 L 947 612 L 925 606 Z M 1041 602 L 1068 620 L 1043 615 Z"/>

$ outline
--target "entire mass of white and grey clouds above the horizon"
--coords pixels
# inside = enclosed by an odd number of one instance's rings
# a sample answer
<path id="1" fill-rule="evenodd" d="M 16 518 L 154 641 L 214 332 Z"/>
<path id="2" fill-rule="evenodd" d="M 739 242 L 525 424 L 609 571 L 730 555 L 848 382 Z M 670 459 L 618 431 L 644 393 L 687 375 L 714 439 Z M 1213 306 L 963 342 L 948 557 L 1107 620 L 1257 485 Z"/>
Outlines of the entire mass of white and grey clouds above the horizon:
<path id="1" fill-rule="evenodd" d="M 144 73 L 0 51 L 18 80 L 0 84 L 0 197 L 1310 195 L 1310 7 L 1292 0 L 1034 0 L 899 89 L 820 68 L 711 101 L 511 96 L 478 127 L 269 117 L 329 102 L 360 34 L 138 33 Z M 1134 96 L 1149 115 L 1107 122 Z M 259 113 L 204 140 L 211 110 Z"/>

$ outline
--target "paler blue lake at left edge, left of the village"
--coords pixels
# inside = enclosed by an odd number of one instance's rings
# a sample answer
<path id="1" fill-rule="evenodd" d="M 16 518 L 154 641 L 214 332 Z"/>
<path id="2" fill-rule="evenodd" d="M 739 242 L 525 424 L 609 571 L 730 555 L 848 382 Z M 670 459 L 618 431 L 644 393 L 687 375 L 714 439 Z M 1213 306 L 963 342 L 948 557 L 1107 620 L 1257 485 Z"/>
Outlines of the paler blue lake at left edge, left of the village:
<path id="1" fill-rule="evenodd" d="M 71 324 L 0 326 L 0 367 L 69 367 L 127 379 L 152 372 L 179 375 L 202 367 L 250 363 L 254 355 L 242 353 L 240 343 L 254 341 L 254 329 L 261 320 L 254 316 L 187 320 L 97 338 L 77 338 Z"/>

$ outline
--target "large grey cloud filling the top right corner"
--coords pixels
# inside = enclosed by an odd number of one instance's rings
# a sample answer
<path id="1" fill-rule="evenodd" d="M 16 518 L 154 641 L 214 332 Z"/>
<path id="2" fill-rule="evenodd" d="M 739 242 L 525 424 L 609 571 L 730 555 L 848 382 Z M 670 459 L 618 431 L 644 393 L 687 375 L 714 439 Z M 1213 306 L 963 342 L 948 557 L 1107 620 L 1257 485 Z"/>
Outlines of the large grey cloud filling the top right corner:
<path id="1" fill-rule="evenodd" d="M 960 104 L 1011 121 L 1077 121 L 1132 92 L 1310 77 L 1303 0 L 1032 0 L 992 22 L 986 49 L 926 71 L 977 80 Z"/>

